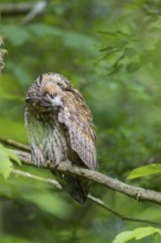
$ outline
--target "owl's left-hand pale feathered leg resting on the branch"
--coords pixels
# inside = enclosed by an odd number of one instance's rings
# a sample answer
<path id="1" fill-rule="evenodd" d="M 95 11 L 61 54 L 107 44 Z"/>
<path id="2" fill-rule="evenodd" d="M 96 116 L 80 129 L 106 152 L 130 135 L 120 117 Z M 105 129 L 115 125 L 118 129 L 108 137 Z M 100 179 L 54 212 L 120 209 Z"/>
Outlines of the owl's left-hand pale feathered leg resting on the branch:
<path id="1" fill-rule="evenodd" d="M 45 165 L 45 158 L 43 151 L 34 142 L 31 144 L 31 160 L 37 167 Z"/>

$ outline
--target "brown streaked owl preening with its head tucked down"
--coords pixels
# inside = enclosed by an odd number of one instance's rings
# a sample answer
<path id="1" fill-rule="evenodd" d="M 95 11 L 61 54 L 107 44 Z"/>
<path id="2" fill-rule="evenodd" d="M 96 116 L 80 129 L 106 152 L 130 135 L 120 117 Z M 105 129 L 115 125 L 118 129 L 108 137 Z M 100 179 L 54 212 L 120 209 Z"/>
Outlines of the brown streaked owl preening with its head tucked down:
<path id="1" fill-rule="evenodd" d="M 84 203 L 88 181 L 56 170 L 63 161 L 92 170 L 97 167 L 93 117 L 80 93 L 64 76 L 44 73 L 28 91 L 24 115 L 33 163 L 54 165 L 52 172 L 62 187 Z"/>

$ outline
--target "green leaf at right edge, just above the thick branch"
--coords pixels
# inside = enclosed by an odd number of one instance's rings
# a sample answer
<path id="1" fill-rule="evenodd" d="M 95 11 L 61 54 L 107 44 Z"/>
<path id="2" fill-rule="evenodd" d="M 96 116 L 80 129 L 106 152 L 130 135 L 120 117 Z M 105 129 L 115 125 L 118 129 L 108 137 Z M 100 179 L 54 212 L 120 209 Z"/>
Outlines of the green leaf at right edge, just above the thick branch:
<path id="1" fill-rule="evenodd" d="M 135 179 L 138 177 L 146 177 L 153 173 L 160 173 L 161 172 L 161 165 L 160 163 L 151 163 L 148 166 L 142 166 L 137 169 L 133 169 L 129 176 L 128 179 Z"/>

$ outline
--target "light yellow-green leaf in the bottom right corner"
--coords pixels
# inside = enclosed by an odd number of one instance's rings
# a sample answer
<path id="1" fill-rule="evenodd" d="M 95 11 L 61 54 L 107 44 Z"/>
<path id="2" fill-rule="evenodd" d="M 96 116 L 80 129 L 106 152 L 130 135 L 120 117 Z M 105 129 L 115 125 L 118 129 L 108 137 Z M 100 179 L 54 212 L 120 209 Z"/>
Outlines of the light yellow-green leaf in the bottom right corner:
<path id="1" fill-rule="evenodd" d="M 157 228 L 152 228 L 152 226 L 137 228 L 133 231 L 121 232 L 115 237 L 112 243 L 125 243 L 125 242 L 129 242 L 132 239 L 141 240 L 154 233 L 158 233 L 159 235 L 161 235 L 161 230 Z"/>

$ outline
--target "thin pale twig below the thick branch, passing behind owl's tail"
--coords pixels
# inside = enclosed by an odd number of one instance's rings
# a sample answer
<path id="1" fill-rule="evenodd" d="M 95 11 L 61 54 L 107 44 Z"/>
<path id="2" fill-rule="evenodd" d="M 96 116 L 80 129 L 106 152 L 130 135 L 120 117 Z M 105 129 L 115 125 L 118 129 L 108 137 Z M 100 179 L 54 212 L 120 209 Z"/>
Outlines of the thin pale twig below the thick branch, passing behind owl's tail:
<path id="1" fill-rule="evenodd" d="M 31 178 L 31 179 L 34 179 L 34 180 L 37 180 L 37 181 L 41 181 L 41 182 L 54 186 L 56 189 L 62 190 L 61 184 L 56 180 L 54 180 L 54 179 L 45 179 L 45 178 L 42 178 L 42 177 L 37 177 L 37 176 L 34 176 L 34 175 L 31 175 L 29 172 L 24 172 L 24 171 L 18 170 L 18 169 L 12 169 L 12 173 L 15 175 L 15 176 Z M 106 209 L 107 211 L 111 212 L 112 214 L 115 214 L 116 216 L 118 216 L 121 220 L 140 222 L 140 223 L 150 223 L 150 224 L 154 224 L 154 225 L 161 225 L 160 223 L 157 223 L 157 222 L 153 222 L 153 221 L 135 219 L 135 218 L 126 216 L 126 215 L 124 215 L 121 213 L 118 213 L 117 211 L 115 211 L 110 207 L 108 207 L 103 200 L 100 200 L 98 198 L 95 198 L 92 194 L 88 194 L 88 199 L 90 201 L 95 202 L 96 204 L 98 204 L 99 207 L 101 207 L 101 208 Z"/>

